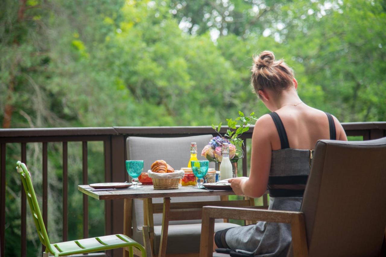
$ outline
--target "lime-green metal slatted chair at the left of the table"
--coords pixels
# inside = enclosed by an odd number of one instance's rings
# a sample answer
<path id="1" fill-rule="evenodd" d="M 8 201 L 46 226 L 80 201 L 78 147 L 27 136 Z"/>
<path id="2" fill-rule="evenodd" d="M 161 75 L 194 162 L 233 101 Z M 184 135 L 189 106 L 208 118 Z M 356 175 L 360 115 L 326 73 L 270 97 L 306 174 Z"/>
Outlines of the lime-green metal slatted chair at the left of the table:
<path id="1" fill-rule="evenodd" d="M 129 247 L 130 257 L 133 256 L 133 247 L 137 247 L 142 253 L 142 257 L 146 257 L 146 251 L 142 245 L 132 240 L 126 235 L 106 235 L 103 237 L 94 237 L 88 239 L 74 240 L 68 242 L 61 242 L 50 244 L 46 227 L 43 223 L 43 218 L 37 203 L 34 188 L 31 182 L 31 175 L 27 170 L 27 166 L 21 161 L 17 162 L 17 172 L 20 174 L 24 186 L 25 194 L 27 195 L 29 207 L 31 209 L 33 219 L 36 225 L 37 233 L 42 244 L 46 247 L 43 256 L 49 256 L 49 253 L 58 256 L 67 256 L 72 254 L 85 254 L 90 252 L 98 252 L 104 250 L 111 250 L 120 247 Z"/>

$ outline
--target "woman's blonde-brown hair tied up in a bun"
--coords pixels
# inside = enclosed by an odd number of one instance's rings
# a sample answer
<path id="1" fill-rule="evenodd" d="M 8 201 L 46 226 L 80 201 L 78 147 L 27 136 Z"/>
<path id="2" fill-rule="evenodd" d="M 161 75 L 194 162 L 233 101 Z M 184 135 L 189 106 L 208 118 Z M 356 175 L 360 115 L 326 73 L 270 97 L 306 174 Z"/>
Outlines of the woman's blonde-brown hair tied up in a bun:
<path id="1" fill-rule="evenodd" d="M 259 95 L 259 90 L 271 89 L 280 94 L 281 91 L 293 85 L 293 70 L 283 59 L 275 60 L 271 51 L 263 51 L 253 57 L 252 85 Z"/>

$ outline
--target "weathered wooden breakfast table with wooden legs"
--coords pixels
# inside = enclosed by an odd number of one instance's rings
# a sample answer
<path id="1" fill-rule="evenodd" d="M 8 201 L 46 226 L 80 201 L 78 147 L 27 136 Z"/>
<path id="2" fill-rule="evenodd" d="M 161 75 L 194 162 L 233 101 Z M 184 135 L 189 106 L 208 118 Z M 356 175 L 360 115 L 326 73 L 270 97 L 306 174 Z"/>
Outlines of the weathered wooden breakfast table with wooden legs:
<path id="1" fill-rule="evenodd" d="M 169 220 L 201 219 L 202 207 L 208 205 L 228 207 L 254 206 L 253 198 L 245 198 L 245 200 L 226 201 L 228 200 L 228 195 L 235 194 L 232 190 L 215 190 L 213 192 L 210 192 L 205 189 L 193 188 L 191 186 L 179 186 L 178 189 L 156 190 L 153 188 L 152 185 L 142 185 L 142 188 L 137 190 L 127 189 L 110 191 L 91 191 L 92 188 L 90 188 L 90 186 L 80 185 L 78 186 L 78 190 L 98 200 L 124 199 L 124 234 L 130 237 L 132 236 L 132 199 L 142 199 L 144 201 L 144 225 L 147 225 L 149 228 L 151 252 L 153 252 L 152 241 L 154 239 L 153 214 L 163 213 L 161 241 L 159 245 L 159 257 L 166 256 L 166 243 L 168 238 Z M 170 197 L 198 196 L 220 196 L 222 201 L 170 203 Z M 164 198 L 164 202 L 152 203 L 152 198 Z M 145 247 L 150 250 L 150 247 L 148 245 L 145 245 Z M 125 250 L 124 255 L 129 256 L 128 252 Z M 179 256 L 181 256 L 181 254 L 179 254 Z"/>

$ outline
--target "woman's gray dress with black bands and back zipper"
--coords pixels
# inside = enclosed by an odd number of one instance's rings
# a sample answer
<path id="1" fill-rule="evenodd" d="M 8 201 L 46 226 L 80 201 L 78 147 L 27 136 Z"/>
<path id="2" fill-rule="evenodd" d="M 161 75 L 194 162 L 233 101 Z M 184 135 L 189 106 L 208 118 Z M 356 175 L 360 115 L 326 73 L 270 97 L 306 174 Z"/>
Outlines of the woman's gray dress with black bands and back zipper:
<path id="1" fill-rule="evenodd" d="M 306 179 L 310 173 L 309 163 L 309 150 L 286 148 L 272 151 L 268 183 L 269 210 L 300 210 Z M 286 256 L 291 243 L 291 225 L 257 222 L 254 225 L 230 228 L 225 234 L 225 241 L 232 250 L 243 254 Z"/>

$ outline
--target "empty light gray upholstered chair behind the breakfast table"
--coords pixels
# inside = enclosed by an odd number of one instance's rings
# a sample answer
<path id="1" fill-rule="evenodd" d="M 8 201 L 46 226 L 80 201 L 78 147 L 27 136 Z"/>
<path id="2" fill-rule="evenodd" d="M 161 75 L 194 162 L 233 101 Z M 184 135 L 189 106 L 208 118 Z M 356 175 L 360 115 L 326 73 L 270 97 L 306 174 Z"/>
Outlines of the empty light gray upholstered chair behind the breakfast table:
<path id="1" fill-rule="evenodd" d="M 197 143 L 198 159 L 205 160 L 200 156 L 201 149 L 212 139 L 212 135 L 190 136 L 183 138 L 146 138 L 128 137 L 126 140 L 128 160 L 144 160 L 144 171 L 150 169 L 155 160 L 165 160 L 174 169 L 186 167 L 190 158 L 190 143 Z M 214 168 L 214 165 L 212 166 Z M 199 202 L 218 201 L 220 197 L 192 197 L 171 198 L 171 202 Z M 154 198 L 153 203 L 162 203 L 162 198 Z M 134 240 L 140 244 L 142 239 L 143 202 L 135 199 L 132 208 L 132 227 Z M 161 237 L 162 213 L 154 214 L 154 252 L 158 253 Z M 236 227 L 236 224 L 223 223 L 217 220 L 215 230 L 222 230 L 229 227 Z M 198 253 L 200 249 L 201 220 L 183 220 L 169 222 L 167 254 Z"/>

